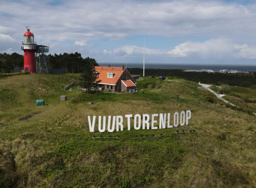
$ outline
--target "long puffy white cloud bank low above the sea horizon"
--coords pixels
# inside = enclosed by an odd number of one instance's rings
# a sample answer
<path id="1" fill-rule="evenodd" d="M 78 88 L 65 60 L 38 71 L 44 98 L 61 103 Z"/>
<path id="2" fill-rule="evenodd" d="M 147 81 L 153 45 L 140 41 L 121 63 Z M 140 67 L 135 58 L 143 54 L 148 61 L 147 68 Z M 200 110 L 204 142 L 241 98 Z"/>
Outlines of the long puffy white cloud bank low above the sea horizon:
<path id="1" fill-rule="evenodd" d="M 104 55 L 133 57 L 143 54 L 143 47 L 125 45 L 113 50 L 103 50 Z M 187 41 L 171 50 L 145 48 L 145 55 L 169 56 L 171 58 L 200 58 L 200 59 L 256 59 L 256 46 L 234 44 L 226 38 L 210 39 L 204 42 Z"/>

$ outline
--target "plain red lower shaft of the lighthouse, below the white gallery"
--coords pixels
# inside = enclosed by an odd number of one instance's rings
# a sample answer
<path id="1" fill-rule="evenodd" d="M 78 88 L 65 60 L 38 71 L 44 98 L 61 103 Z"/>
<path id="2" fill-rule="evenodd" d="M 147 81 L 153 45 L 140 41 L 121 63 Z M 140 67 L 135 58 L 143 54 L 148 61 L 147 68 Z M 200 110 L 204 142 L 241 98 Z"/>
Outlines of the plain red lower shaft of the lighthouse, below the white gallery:
<path id="1" fill-rule="evenodd" d="M 24 50 L 24 73 L 35 73 L 35 50 Z"/>

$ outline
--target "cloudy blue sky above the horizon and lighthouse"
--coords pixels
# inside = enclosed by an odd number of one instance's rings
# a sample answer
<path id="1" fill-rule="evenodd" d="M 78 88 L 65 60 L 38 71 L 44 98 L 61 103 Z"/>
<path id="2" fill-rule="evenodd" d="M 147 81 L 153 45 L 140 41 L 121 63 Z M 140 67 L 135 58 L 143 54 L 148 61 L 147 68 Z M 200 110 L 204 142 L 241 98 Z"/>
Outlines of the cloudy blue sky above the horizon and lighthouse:
<path id="1" fill-rule="evenodd" d="M 0 53 L 26 27 L 51 54 L 97 62 L 256 65 L 256 0 L 0 0 Z"/>

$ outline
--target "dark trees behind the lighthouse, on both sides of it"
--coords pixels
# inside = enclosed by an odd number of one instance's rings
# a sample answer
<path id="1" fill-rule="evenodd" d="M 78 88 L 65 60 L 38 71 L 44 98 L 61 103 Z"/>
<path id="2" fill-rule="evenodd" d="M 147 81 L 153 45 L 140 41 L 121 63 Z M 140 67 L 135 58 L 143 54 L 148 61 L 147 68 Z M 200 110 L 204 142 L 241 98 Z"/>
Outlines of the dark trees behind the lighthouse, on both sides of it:
<path id="1" fill-rule="evenodd" d="M 0 53 L 0 73 L 13 72 L 14 67 L 23 67 L 24 56 L 18 53 Z M 87 64 L 98 66 L 94 58 L 82 58 L 81 53 L 49 54 L 48 68 L 63 68 L 65 73 L 82 73 Z"/>

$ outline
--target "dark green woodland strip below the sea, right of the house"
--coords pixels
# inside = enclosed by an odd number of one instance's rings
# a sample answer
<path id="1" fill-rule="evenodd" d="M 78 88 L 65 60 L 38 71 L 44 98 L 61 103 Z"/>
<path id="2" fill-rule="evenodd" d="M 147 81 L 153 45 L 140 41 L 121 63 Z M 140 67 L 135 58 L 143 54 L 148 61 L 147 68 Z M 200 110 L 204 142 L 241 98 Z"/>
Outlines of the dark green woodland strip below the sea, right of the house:
<path id="1" fill-rule="evenodd" d="M 129 68 L 131 74 L 143 74 L 142 68 Z M 209 83 L 209 84 L 228 84 L 242 87 L 251 87 L 256 85 L 256 73 L 254 74 L 221 74 L 221 73 L 206 73 L 206 72 L 183 72 L 179 69 L 145 69 L 147 76 L 177 76 L 193 82 Z"/>

